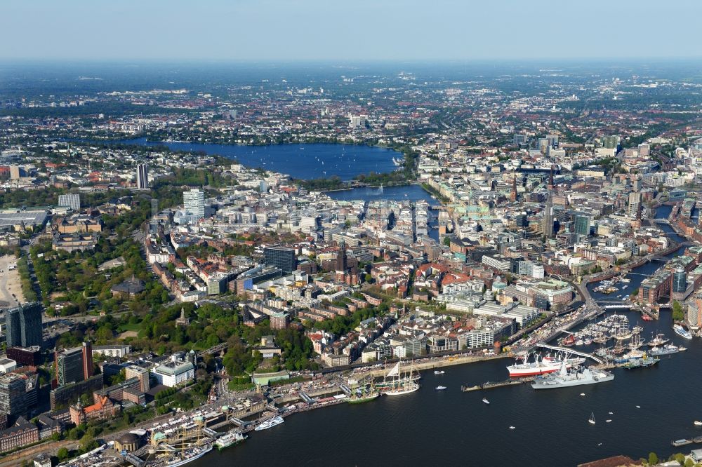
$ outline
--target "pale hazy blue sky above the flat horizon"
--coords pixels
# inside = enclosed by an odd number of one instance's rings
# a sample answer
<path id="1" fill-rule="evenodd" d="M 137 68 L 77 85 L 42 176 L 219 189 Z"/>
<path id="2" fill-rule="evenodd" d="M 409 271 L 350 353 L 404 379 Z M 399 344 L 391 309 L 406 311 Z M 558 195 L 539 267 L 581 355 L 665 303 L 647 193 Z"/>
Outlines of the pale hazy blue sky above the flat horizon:
<path id="1" fill-rule="evenodd" d="M 700 57 L 701 0 L 1 0 L 1 58 Z"/>

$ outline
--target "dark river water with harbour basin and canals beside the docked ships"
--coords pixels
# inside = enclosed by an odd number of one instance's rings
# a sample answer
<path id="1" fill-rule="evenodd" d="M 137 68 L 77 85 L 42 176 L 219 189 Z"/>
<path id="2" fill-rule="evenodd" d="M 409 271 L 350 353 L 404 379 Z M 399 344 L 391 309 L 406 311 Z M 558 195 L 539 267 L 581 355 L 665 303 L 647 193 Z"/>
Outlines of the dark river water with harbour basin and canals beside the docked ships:
<path id="1" fill-rule="evenodd" d="M 668 209 L 661 208 L 658 216 L 667 216 Z M 661 227 L 670 232 L 668 226 Z M 649 263 L 635 272 L 649 274 L 660 266 Z M 630 278 L 628 291 L 643 276 Z M 426 371 L 416 393 L 295 414 L 280 426 L 253 432 L 241 445 L 208 454 L 191 465 L 495 466 L 517 462 L 541 467 L 574 466 L 617 454 L 638 459 L 651 451 L 660 457 L 687 453 L 695 446 L 675 448 L 670 441 L 702 435 L 693 426 L 694 420 L 702 419 L 697 402 L 702 339 L 685 341 L 677 336 L 671 329 L 670 312 L 650 322 L 640 320 L 638 313 L 627 314 L 630 325 L 644 327 L 642 337 L 664 332 L 688 350 L 663 357 L 648 369 L 616 369 L 611 382 L 554 391 L 534 391 L 523 385 L 461 392 L 462 384 L 506 379 L 508 359 L 446 367 L 446 374 L 440 376 Z M 448 389 L 435 391 L 438 384 Z M 491 404 L 482 403 L 483 397 Z M 588 424 L 592 412 L 595 425 Z M 608 424 L 605 419 L 612 421 Z M 510 425 L 515 429 L 510 430 Z"/>

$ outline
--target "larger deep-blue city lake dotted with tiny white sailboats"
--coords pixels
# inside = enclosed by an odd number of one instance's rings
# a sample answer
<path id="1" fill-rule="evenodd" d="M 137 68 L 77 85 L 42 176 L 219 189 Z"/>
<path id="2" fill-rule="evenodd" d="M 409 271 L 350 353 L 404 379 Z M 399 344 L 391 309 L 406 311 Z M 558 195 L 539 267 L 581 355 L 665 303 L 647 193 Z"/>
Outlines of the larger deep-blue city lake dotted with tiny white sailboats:
<path id="1" fill-rule="evenodd" d="M 100 143 L 100 142 L 97 142 Z M 151 142 L 146 138 L 115 141 L 118 144 L 167 146 L 173 151 L 204 151 L 206 154 L 236 159 L 252 168 L 281 172 L 300 180 L 328 178 L 352 180 L 356 175 L 370 172 L 385 173 L 397 169 L 393 158 L 404 161 L 400 152 L 383 147 L 352 144 L 201 144 L 191 142 Z"/>

